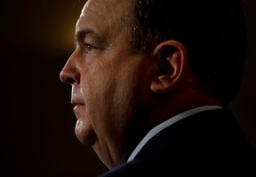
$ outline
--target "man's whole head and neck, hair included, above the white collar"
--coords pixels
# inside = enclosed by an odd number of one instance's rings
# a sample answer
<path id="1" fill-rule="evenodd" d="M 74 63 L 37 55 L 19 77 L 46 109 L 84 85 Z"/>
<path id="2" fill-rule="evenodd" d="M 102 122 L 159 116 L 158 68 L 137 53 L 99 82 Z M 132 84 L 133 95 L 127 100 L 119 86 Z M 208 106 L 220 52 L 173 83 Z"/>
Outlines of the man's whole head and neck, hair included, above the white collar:
<path id="1" fill-rule="evenodd" d="M 91 144 L 109 168 L 124 163 L 165 119 L 200 105 L 227 104 L 235 96 L 244 21 L 235 1 L 225 2 L 89 0 L 84 5 L 76 50 L 60 79 L 72 85 L 77 138 Z"/>

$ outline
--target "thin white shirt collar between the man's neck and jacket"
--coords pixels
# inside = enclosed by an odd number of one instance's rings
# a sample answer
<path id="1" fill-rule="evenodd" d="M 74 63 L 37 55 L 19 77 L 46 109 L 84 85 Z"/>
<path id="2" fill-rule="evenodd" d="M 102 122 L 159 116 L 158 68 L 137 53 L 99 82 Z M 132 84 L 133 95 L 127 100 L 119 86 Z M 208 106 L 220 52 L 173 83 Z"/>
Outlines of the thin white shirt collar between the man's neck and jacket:
<path id="1" fill-rule="evenodd" d="M 157 125 L 156 127 L 152 128 L 148 134 L 141 140 L 141 142 L 137 145 L 137 147 L 132 151 L 132 154 L 128 158 L 127 162 L 131 161 L 135 156 L 140 152 L 140 150 L 143 148 L 143 146 L 156 134 L 158 134 L 160 131 L 162 131 L 166 127 L 170 127 L 172 124 L 174 124 L 177 121 L 180 121 L 181 119 L 187 118 L 188 116 L 195 114 L 197 112 L 203 112 L 208 110 L 216 110 L 216 109 L 222 109 L 219 105 L 206 105 L 201 107 L 196 107 L 194 109 L 188 110 L 186 112 L 181 112 L 180 114 L 165 120 L 163 123 Z"/>

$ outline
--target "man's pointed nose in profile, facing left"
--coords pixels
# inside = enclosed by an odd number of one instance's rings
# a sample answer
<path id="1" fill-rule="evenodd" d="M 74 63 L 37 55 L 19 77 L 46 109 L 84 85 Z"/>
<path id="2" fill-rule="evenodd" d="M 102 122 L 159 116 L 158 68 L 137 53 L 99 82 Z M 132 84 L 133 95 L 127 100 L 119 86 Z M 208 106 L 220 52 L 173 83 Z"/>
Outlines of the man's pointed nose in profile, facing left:
<path id="1" fill-rule="evenodd" d="M 76 62 L 74 61 L 74 53 L 68 58 L 66 65 L 62 68 L 60 72 L 60 81 L 68 83 L 70 85 L 75 82 L 79 82 L 80 75 Z"/>

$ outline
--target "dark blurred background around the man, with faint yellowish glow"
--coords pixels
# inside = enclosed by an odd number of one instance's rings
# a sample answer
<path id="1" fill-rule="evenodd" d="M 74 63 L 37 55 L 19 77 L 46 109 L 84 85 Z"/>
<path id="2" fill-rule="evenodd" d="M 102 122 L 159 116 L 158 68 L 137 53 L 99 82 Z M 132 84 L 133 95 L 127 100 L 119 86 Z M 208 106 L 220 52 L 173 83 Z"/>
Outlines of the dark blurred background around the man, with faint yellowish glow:
<path id="1" fill-rule="evenodd" d="M 1 4 L 3 177 L 96 176 L 107 170 L 92 148 L 76 139 L 70 87 L 59 78 L 74 50 L 83 6 L 83 0 Z M 229 108 L 256 149 L 256 1 L 247 0 L 246 9 L 249 56 L 240 92 Z"/>

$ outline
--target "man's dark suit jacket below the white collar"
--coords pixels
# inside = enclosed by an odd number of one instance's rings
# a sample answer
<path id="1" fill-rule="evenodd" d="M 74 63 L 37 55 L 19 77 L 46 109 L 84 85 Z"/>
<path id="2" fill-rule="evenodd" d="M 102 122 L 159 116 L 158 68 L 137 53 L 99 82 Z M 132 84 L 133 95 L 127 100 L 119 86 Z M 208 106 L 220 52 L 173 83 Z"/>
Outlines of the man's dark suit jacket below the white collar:
<path id="1" fill-rule="evenodd" d="M 228 110 L 196 113 L 149 140 L 106 176 L 254 176 L 255 150 Z"/>

